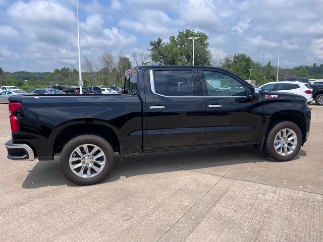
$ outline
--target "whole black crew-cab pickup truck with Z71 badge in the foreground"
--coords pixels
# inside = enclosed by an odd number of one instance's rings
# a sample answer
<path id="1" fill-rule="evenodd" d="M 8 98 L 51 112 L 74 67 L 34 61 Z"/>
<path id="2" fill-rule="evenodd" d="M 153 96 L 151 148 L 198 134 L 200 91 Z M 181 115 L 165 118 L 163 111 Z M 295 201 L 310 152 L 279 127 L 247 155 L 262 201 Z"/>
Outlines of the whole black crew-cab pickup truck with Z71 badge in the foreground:
<path id="1" fill-rule="evenodd" d="M 10 97 L 12 160 L 53 160 L 79 185 L 102 181 L 114 152 L 254 145 L 295 157 L 309 135 L 304 97 L 258 91 L 220 68 L 146 66 L 125 73 L 123 94 Z"/>

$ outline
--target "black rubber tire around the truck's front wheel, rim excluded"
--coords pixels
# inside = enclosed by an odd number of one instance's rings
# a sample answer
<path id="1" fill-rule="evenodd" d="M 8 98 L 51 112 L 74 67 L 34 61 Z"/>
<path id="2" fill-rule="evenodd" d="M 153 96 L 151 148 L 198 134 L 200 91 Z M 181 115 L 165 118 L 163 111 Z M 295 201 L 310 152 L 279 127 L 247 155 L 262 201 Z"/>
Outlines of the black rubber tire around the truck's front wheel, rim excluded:
<path id="1" fill-rule="evenodd" d="M 294 149 L 294 151 L 288 155 L 280 155 L 274 146 L 274 141 L 276 138 L 276 135 L 283 129 L 291 129 L 292 131 L 295 132 L 297 136 L 297 144 Z M 263 153 L 275 160 L 275 161 L 288 161 L 293 159 L 299 152 L 302 144 L 302 133 L 298 126 L 295 123 L 289 122 L 289 121 L 280 121 L 272 125 L 271 130 L 269 131 L 266 141 L 263 146 Z"/>

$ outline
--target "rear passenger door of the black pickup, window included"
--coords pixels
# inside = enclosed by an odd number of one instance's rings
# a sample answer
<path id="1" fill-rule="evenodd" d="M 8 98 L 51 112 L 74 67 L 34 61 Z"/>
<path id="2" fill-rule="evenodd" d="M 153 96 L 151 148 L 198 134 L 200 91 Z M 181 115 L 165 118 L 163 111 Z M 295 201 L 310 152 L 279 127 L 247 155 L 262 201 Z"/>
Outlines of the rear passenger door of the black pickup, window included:
<path id="1" fill-rule="evenodd" d="M 201 145 L 205 102 L 193 68 L 145 71 L 144 134 L 152 148 Z"/>

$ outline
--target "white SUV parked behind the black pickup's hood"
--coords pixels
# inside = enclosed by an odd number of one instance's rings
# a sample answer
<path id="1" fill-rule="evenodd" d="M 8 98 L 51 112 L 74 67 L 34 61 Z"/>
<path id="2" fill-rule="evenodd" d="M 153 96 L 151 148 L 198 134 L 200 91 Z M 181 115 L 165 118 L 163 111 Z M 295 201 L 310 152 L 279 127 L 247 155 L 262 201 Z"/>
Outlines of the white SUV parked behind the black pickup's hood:
<path id="1" fill-rule="evenodd" d="M 313 89 L 303 82 L 268 82 L 259 87 L 262 91 L 288 92 L 301 95 L 307 99 L 307 104 L 313 101 Z"/>

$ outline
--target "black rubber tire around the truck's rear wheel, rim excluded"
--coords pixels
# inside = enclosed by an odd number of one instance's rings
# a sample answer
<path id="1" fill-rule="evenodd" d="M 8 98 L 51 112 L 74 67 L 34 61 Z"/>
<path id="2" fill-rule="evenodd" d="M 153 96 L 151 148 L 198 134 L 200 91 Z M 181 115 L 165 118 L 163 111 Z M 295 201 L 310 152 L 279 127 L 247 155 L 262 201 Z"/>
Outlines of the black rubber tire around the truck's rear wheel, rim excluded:
<path id="1" fill-rule="evenodd" d="M 95 176 L 83 178 L 72 171 L 69 165 L 70 155 L 77 147 L 84 144 L 93 144 L 99 147 L 105 155 L 105 165 L 103 169 Z M 66 178 L 77 185 L 93 185 L 100 183 L 113 169 L 115 163 L 114 151 L 105 139 L 97 135 L 80 135 L 70 140 L 63 148 L 60 156 L 60 167 Z"/>

